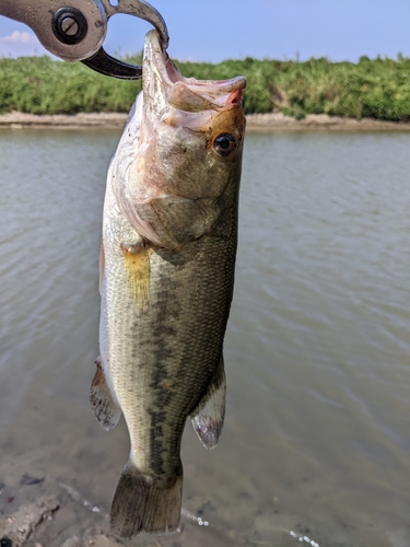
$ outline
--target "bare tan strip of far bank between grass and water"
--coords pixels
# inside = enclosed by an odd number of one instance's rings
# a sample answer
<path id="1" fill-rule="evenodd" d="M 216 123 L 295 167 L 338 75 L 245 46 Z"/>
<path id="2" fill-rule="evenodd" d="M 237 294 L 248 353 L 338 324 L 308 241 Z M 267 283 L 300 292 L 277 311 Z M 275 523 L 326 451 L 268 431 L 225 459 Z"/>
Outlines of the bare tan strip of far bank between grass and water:
<path id="1" fill-rule="evenodd" d="M 0 129 L 122 129 L 128 114 L 80 113 L 36 115 L 12 112 L 0 115 Z M 246 116 L 247 131 L 409 131 L 410 121 L 384 121 L 372 118 L 361 120 L 341 118 L 327 114 L 309 114 L 295 119 L 281 113 L 250 114 Z"/>

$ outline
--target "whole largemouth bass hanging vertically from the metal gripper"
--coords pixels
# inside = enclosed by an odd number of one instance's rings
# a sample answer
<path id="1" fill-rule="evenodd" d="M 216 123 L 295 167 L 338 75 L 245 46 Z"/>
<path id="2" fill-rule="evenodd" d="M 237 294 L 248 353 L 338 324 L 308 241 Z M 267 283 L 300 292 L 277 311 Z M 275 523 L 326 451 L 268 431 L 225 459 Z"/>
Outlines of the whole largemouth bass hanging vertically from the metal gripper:
<path id="1" fill-rule="evenodd" d="M 177 529 L 188 417 L 206 449 L 221 434 L 245 135 L 245 78 L 183 77 L 156 31 L 142 66 L 107 174 L 90 392 L 102 426 L 122 414 L 129 432 L 110 509 L 121 538 Z"/>

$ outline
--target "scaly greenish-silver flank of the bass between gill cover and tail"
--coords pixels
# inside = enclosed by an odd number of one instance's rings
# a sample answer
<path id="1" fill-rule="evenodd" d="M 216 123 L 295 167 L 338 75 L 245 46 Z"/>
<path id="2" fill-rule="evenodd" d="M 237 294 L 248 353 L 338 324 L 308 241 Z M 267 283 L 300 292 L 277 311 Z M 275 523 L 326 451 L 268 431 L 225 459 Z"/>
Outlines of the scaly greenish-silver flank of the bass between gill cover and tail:
<path id="1" fill-rule="evenodd" d="M 150 441 L 148 465 L 139 462 L 141 470 L 159 472 L 163 459 L 155 457 L 159 446 L 163 445 L 163 450 L 178 446 L 175 439 L 180 439 L 186 417 L 194 410 L 192 400 L 197 403 L 203 395 L 219 364 L 236 249 L 236 219 L 227 218 L 226 221 L 231 223 L 229 237 L 210 235 L 186 245 L 177 254 L 166 249 L 150 252 L 150 306 L 145 314 L 136 312 L 132 291 L 127 288 L 124 255 L 118 253 L 122 234 L 130 241 L 132 228 L 125 226 L 128 222 L 118 216 L 118 232 L 113 240 L 115 224 L 112 219 L 107 222 L 113 248 L 106 248 L 112 259 L 106 264 L 109 303 L 105 309 L 109 310 L 121 336 L 114 339 L 110 348 L 102 348 L 102 353 L 116 356 L 122 363 L 110 377 L 121 408 L 137 405 L 139 421 L 128 423 L 136 445 L 145 446 L 147 441 L 140 437 L 155 431 L 153 445 Z M 134 232 L 133 241 L 139 240 Z M 109 241 L 108 237 L 105 241 Z M 216 270 L 215 261 L 219 263 Z M 110 318 L 107 321 L 109 323 Z M 138 382 L 136 369 L 142 371 Z M 132 391 L 129 391 L 131 385 Z M 142 396 L 147 389 L 154 389 L 152 399 Z M 121 403 L 122 398 L 127 401 Z M 161 420 L 159 415 L 164 407 L 167 412 Z M 150 412 L 152 408 L 155 410 Z M 174 430 L 175 423 L 178 423 L 177 430 Z M 155 430 L 162 426 L 167 428 L 172 439 Z M 174 459 L 175 455 L 165 458 L 167 462 Z"/>

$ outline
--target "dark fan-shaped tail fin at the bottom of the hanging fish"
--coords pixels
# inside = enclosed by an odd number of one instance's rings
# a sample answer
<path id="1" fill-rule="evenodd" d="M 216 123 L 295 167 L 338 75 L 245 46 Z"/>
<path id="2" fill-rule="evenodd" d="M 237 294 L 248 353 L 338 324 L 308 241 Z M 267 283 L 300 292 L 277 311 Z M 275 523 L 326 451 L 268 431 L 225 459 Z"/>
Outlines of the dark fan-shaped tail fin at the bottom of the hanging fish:
<path id="1" fill-rule="evenodd" d="M 159 480 L 143 475 L 129 459 L 112 504 L 112 531 L 124 539 L 139 532 L 174 532 L 179 524 L 181 497 L 181 464 L 173 477 Z"/>

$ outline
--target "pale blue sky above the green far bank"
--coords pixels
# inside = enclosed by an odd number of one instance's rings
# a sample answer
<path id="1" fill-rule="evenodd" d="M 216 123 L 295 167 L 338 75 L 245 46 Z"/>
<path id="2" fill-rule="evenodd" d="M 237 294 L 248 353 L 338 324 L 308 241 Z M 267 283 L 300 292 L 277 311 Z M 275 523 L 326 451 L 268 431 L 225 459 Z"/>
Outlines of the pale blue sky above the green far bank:
<path id="1" fill-rule="evenodd" d="M 0 0 L 1 2 L 4 0 Z M 42 1 L 42 0 L 25 0 Z M 43 0 L 44 1 L 44 0 Z M 70 4 L 70 1 L 67 2 Z M 227 58 L 332 61 L 410 57 L 410 0 L 152 0 L 181 60 Z M 110 19 L 104 47 L 126 55 L 142 49 L 150 28 L 130 15 Z M 0 16 L 0 56 L 44 55 L 25 25 Z"/>

